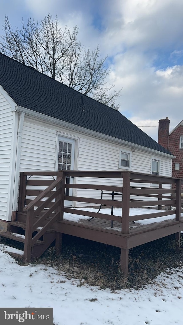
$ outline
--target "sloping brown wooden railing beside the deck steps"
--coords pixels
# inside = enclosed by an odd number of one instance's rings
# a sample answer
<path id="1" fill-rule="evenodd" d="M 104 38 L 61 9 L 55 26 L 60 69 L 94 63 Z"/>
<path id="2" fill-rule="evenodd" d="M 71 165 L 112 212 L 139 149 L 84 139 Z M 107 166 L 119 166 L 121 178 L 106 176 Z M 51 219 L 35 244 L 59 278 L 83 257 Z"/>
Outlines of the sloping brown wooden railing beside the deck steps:
<path id="1" fill-rule="evenodd" d="M 39 175 L 40 174 L 41 173 L 39 173 Z M 31 259 L 32 248 L 36 241 L 46 233 L 55 221 L 61 219 L 61 206 L 63 206 L 62 201 L 64 198 L 64 181 L 61 174 L 62 173 L 60 173 L 60 176 L 58 175 L 57 179 L 51 182 L 43 191 L 33 190 L 32 193 L 31 190 L 27 190 L 29 195 L 35 195 L 37 192 L 40 193 L 23 208 L 23 211 L 27 213 L 24 242 L 25 261 Z M 42 182 L 43 180 L 41 180 L 41 183 Z M 40 182 L 36 184 L 38 185 Z M 34 231 L 37 233 L 33 237 Z"/>

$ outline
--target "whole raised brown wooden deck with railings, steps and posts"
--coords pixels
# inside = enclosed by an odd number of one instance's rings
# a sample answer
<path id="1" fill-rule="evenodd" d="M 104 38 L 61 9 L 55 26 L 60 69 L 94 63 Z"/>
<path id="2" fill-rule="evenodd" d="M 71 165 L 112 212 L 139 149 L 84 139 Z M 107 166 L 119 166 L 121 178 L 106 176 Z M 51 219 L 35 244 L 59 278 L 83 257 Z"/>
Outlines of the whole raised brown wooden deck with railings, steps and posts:
<path id="1" fill-rule="evenodd" d="M 66 183 L 66 177 L 68 180 L 71 176 L 75 178 L 74 184 Z M 86 181 L 80 184 L 77 182 L 77 177 L 82 177 Z M 99 178 L 100 182 L 97 183 Z M 116 186 L 115 181 L 114 185 L 105 185 L 105 181 L 102 185 L 101 178 L 119 178 L 121 186 Z M 91 182 L 88 182 L 89 179 Z M 151 187 L 151 184 L 155 184 L 155 187 Z M 9 223 L 11 235 L 8 232 L 3 236 L 12 236 L 12 233 L 25 235 L 23 240 L 25 261 L 40 256 L 53 241 L 59 252 L 62 234 L 117 246 L 121 248 L 121 269 L 127 276 L 130 248 L 171 234 L 176 234 L 176 241 L 180 245 L 180 231 L 183 231 L 181 184 L 183 180 L 178 178 L 130 171 L 23 172 L 20 178 L 18 211 L 12 213 L 12 222 Z M 110 195 L 115 193 L 118 199 L 115 199 L 114 195 L 112 200 L 111 196 L 110 199 L 106 199 L 106 196 L 105 199 L 102 196 L 101 198 L 81 197 L 77 192 L 72 196 L 68 193 L 69 189 L 108 191 Z M 110 206 L 114 207 L 114 210 L 112 215 L 106 214 L 105 209 L 100 213 L 83 211 L 83 209 L 64 207 L 64 201 L 82 202 L 82 204 L 84 202 L 88 206 Z M 161 210 L 163 205 L 174 206 L 175 211 Z M 122 208 L 120 216 L 115 215 L 115 207 Z M 146 214 L 129 216 L 130 208 L 139 207 L 158 207 L 159 212 L 154 213 L 149 210 Z M 93 217 L 93 219 L 90 222 L 83 219 L 78 222 L 68 221 L 63 218 L 64 212 Z M 156 222 L 156 217 L 171 214 L 175 214 L 174 219 Z M 133 223 L 133 221 L 150 218 L 155 218 L 151 224 Z M 111 220 L 113 220 L 112 228 Z M 53 231 L 50 232 L 50 229 Z M 38 240 L 42 241 L 41 245 L 37 245 Z"/>

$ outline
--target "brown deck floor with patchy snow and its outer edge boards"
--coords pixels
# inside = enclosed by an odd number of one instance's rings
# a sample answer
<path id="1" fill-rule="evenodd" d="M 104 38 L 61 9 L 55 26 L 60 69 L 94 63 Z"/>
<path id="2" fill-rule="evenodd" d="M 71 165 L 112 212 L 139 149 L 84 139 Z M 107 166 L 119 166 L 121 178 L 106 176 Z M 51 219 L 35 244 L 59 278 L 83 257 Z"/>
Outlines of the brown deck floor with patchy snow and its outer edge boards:
<path id="1" fill-rule="evenodd" d="M 77 237 L 104 242 L 109 245 L 118 245 L 118 247 L 124 247 L 126 244 L 125 240 L 128 238 L 129 248 L 183 230 L 183 217 L 181 217 L 180 222 L 177 222 L 175 219 L 163 220 L 162 222 L 154 222 L 147 225 L 134 224 L 133 222 L 130 222 L 129 234 L 127 235 L 121 233 L 121 224 L 117 221 L 113 221 L 113 227 L 111 227 L 110 220 L 99 218 L 94 218 L 91 221 L 80 219 L 77 220 L 77 222 L 63 220 L 60 221 L 60 223 L 63 225 L 60 224 L 60 226 L 57 227 L 57 229 L 59 229 L 57 231 Z M 101 239 L 99 240 L 100 236 Z M 121 243 L 123 243 L 121 245 L 120 238 Z"/>

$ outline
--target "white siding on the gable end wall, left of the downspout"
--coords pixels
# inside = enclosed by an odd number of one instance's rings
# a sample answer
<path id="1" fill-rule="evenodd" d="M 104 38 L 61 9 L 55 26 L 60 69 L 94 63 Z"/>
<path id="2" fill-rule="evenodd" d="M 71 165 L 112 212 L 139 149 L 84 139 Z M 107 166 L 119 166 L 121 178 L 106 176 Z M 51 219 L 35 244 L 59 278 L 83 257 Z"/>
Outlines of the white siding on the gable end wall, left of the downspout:
<path id="1" fill-rule="evenodd" d="M 0 219 L 6 220 L 13 127 L 11 105 L 0 92 Z"/>

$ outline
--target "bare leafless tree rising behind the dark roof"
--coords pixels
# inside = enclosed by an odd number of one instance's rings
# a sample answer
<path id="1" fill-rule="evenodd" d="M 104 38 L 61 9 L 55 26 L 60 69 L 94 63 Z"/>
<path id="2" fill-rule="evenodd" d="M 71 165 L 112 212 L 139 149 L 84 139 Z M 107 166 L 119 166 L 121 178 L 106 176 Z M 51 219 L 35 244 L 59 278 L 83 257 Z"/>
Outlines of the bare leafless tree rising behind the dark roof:
<path id="1" fill-rule="evenodd" d="M 28 19 L 21 28 L 12 26 L 7 17 L 1 35 L 0 51 L 35 70 L 51 76 L 65 85 L 118 110 L 115 101 L 120 91 L 111 92 L 107 85 L 110 69 L 100 58 L 99 46 L 94 51 L 77 41 L 78 28 L 70 31 L 60 27 L 57 17 L 48 14 L 40 23 Z"/>

